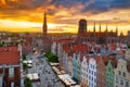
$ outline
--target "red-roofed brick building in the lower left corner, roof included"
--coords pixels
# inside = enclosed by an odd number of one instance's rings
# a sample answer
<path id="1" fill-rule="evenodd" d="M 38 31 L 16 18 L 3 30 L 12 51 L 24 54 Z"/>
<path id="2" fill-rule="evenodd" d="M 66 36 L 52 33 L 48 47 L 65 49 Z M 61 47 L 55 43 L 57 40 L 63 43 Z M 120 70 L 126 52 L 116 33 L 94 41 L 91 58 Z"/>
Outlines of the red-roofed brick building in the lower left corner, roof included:
<path id="1" fill-rule="evenodd" d="M 21 87 L 18 51 L 0 52 L 0 87 Z"/>

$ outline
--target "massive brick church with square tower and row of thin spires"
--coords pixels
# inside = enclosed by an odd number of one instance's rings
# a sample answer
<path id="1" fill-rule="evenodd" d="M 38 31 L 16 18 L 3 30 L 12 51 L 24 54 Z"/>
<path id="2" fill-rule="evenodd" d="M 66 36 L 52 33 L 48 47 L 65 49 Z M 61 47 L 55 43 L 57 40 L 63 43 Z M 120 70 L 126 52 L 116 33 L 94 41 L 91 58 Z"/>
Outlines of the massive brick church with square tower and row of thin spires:
<path id="1" fill-rule="evenodd" d="M 116 32 L 108 32 L 107 24 L 106 24 L 106 30 L 101 32 L 101 23 L 99 26 L 100 32 L 95 32 L 95 23 L 93 26 L 93 32 L 88 32 L 87 28 L 87 21 L 80 20 L 79 21 L 79 28 L 78 28 L 78 38 L 77 42 L 95 42 L 101 45 L 112 44 L 112 42 L 118 42 L 118 28 L 116 27 Z"/>

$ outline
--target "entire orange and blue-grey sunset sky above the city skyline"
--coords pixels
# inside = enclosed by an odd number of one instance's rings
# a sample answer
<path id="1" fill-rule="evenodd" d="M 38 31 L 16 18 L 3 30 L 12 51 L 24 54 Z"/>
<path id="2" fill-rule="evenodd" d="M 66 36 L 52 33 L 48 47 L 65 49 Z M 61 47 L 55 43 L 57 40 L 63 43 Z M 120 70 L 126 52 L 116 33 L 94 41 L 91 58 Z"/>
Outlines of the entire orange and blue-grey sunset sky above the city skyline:
<path id="1" fill-rule="evenodd" d="M 130 0 L 0 0 L 0 30 L 42 32 L 47 11 L 49 33 L 77 33 L 78 21 L 86 18 L 88 29 L 96 32 L 106 22 L 108 30 L 126 35 L 130 30 Z"/>

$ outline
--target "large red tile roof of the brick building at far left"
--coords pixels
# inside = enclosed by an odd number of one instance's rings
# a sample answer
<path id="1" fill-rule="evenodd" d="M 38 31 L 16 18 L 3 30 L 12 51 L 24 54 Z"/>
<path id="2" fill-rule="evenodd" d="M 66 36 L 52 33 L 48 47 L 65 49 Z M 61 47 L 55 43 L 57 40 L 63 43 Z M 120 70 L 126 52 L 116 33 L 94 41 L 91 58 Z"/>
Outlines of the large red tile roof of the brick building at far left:
<path id="1" fill-rule="evenodd" d="M 0 64 L 18 64 L 20 63 L 20 52 L 18 51 L 8 51 L 0 52 Z"/>

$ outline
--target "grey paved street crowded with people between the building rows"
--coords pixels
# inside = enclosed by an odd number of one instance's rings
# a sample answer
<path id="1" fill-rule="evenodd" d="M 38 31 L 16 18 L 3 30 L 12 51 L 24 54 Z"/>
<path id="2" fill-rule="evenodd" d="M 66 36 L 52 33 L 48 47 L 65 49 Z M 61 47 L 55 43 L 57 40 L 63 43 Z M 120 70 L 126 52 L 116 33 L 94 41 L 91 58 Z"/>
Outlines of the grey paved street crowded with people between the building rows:
<path id="1" fill-rule="evenodd" d="M 40 82 L 34 82 L 32 87 L 64 87 L 60 78 L 53 73 L 44 57 L 28 54 L 27 60 L 32 60 L 32 66 L 28 73 L 38 73 Z"/>

